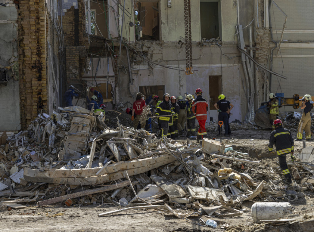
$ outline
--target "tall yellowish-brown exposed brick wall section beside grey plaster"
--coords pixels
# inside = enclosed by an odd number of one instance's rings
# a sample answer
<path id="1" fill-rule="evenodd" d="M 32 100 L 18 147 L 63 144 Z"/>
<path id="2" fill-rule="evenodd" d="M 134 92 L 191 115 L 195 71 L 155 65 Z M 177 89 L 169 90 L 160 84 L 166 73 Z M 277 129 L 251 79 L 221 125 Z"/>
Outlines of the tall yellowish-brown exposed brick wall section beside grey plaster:
<path id="1" fill-rule="evenodd" d="M 47 107 L 46 3 L 41 0 L 19 3 L 19 73 L 21 126 L 26 128 Z"/>

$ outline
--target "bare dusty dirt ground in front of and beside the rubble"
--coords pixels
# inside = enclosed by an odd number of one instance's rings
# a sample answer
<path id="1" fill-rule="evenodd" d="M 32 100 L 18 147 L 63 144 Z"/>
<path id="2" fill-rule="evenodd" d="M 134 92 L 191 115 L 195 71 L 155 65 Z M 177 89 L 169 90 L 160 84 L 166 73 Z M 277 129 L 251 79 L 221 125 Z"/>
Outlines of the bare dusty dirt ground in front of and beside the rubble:
<path id="1" fill-rule="evenodd" d="M 269 130 L 237 130 L 232 131 L 228 137 L 230 145 L 234 150 L 249 153 L 250 157 L 243 155 L 244 159 L 259 160 L 259 165 L 246 165 L 246 171 L 253 179 L 261 181 L 262 177 L 257 176 L 258 171 L 266 172 L 270 168 L 276 168 L 278 160 L 275 155 L 268 154 Z M 217 132 L 208 133 L 209 138 L 217 137 Z M 218 139 L 218 138 L 217 138 Z M 182 140 L 183 142 L 184 140 Z M 313 142 L 306 142 L 306 145 L 314 145 Z M 295 142 L 295 151 L 302 148 L 302 142 Z M 254 174 L 255 173 L 255 174 Z M 267 179 L 265 179 L 267 181 Z M 286 218 L 295 219 L 295 223 L 311 220 L 314 218 L 314 195 L 312 192 L 304 192 L 305 197 L 295 202 L 290 202 L 294 207 L 294 214 Z M 258 197 L 254 201 L 261 201 Z M 268 231 L 267 224 L 254 224 L 251 219 L 250 208 L 254 201 L 243 203 L 242 210 L 245 213 L 241 216 L 231 218 L 211 218 L 218 223 L 216 229 L 201 227 L 189 223 L 186 219 L 178 219 L 169 212 L 159 209 L 130 210 L 119 214 L 112 214 L 106 217 L 98 217 L 98 214 L 116 210 L 113 204 L 89 205 L 67 207 L 56 204 L 45 207 L 37 207 L 29 204 L 23 209 L 5 209 L 0 212 L 1 231 Z M 195 209 L 192 209 L 195 211 Z M 177 209 L 178 213 L 191 212 L 191 210 Z M 205 216 L 191 216 L 193 222 L 198 222 Z M 222 229 L 222 227 L 228 229 Z M 287 231 L 287 230 L 285 230 Z M 298 230 L 290 230 L 298 231 Z M 308 230 L 313 231 L 313 230 Z"/>

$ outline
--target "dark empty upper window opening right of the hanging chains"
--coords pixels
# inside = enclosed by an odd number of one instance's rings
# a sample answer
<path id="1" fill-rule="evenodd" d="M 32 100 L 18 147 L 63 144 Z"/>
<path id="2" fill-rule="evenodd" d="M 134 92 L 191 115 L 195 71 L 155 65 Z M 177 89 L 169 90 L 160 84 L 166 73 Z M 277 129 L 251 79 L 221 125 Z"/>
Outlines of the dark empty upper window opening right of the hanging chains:
<path id="1" fill-rule="evenodd" d="M 201 38 L 221 37 L 221 11 L 218 0 L 200 0 Z"/>

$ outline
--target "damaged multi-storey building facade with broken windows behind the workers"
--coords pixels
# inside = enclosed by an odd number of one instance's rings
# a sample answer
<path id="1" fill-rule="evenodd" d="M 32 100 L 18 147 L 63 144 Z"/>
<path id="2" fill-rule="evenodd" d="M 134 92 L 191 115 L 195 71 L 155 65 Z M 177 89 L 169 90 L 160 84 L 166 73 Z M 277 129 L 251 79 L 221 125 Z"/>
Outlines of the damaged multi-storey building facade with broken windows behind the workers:
<path id="1" fill-rule="evenodd" d="M 296 74 L 312 73 L 311 25 L 298 15 L 310 14 L 304 11 L 310 1 L 191 1 L 190 75 L 184 0 L 0 3 L 2 130 L 27 128 L 38 112 L 57 111 L 69 85 L 80 91 L 73 105 L 86 108 L 93 87 L 107 109 L 130 107 L 137 92 L 184 96 L 200 87 L 208 121 L 218 118 L 213 105 L 221 93 L 236 106 L 231 121 L 252 120 L 269 92 L 311 94 L 309 85 L 300 89 L 295 83 Z M 280 74 L 283 69 L 288 79 L 263 67 Z"/>

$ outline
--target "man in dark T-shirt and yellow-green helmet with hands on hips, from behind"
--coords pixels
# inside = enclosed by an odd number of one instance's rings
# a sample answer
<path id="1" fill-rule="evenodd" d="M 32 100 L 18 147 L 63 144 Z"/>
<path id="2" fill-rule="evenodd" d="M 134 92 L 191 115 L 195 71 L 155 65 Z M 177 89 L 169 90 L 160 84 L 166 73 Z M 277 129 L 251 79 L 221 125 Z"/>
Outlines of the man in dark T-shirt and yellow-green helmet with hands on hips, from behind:
<path id="1" fill-rule="evenodd" d="M 231 104 L 229 101 L 226 100 L 226 97 L 224 94 L 220 94 L 218 96 L 218 99 L 219 99 L 219 101 L 214 104 L 214 107 L 218 111 L 218 121 L 224 122 L 225 136 L 227 137 L 227 136 L 229 136 L 228 135 L 228 125 L 229 125 L 228 114 L 230 113 L 230 110 L 233 108 L 233 104 Z M 217 106 L 219 107 L 219 109 L 217 108 Z M 220 133 L 222 133 L 222 131 L 220 131 L 219 125 L 218 125 L 218 132 L 219 132 L 218 135 L 220 135 Z"/>

